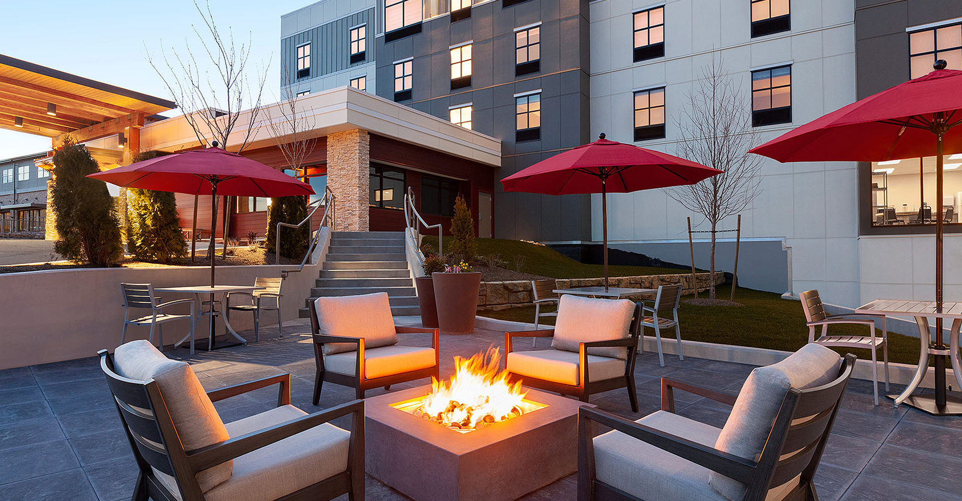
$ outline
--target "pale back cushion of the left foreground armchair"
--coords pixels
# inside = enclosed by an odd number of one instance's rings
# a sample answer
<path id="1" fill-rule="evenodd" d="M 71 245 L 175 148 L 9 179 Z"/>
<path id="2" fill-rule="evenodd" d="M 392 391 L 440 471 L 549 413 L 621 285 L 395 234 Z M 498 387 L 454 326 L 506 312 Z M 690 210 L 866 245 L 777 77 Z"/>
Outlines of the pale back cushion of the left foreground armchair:
<path id="1" fill-rule="evenodd" d="M 117 346 L 114 371 L 146 383 L 153 379 L 177 429 L 184 450 L 212 445 L 230 438 L 207 392 L 186 362 L 167 359 L 150 342 L 139 339 Z M 155 403 L 156 404 L 156 403 Z M 167 447 L 179 444 L 168 443 Z M 234 462 L 220 463 L 197 473 L 200 489 L 207 491 L 231 478 Z"/>

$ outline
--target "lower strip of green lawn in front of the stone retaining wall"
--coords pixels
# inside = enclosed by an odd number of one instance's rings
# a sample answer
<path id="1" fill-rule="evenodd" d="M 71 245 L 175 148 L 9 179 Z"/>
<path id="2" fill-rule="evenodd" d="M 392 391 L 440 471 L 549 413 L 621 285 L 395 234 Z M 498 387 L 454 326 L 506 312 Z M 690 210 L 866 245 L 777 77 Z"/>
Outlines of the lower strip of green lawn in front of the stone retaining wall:
<path id="1" fill-rule="evenodd" d="M 719 286 L 718 297 L 727 299 L 730 293 L 729 284 Z M 690 297 L 692 296 L 686 296 Z M 699 297 L 705 295 L 699 294 Z M 778 294 L 750 288 L 737 288 L 735 301 L 744 306 L 693 306 L 682 302 L 678 309 L 681 338 L 783 351 L 796 351 L 808 341 L 805 315 L 801 312 L 801 303 L 798 301 L 781 299 Z M 533 322 L 534 312 L 533 306 L 525 306 L 479 314 L 504 320 Z M 543 322 L 553 324 L 554 318 L 546 317 Z M 856 325 L 835 325 L 830 327 L 828 332 L 832 335 L 864 336 L 866 331 L 865 327 Z M 654 336 L 654 330 L 646 329 L 645 334 Z M 669 339 L 674 338 L 673 329 L 668 334 L 662 334 Z M 851 352 L 859 359 L 872 360 L 872 354 L 868 350 L 838 348 L 836 351 L 842 354 Z M 878 352 L 878 357 L 880 360 L 881 351 Z M 919 363 L 919 339 L 890 333 L 889 362 Z"/>

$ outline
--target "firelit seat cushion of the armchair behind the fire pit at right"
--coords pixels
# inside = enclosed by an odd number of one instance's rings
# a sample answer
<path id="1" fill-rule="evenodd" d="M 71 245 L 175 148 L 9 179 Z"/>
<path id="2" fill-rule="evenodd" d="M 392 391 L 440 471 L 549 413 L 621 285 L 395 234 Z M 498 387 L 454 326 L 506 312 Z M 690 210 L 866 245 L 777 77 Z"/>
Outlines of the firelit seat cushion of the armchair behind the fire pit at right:
<path id="1" fill-rule="evenodd" d="M 578 354 L 564 350 L 513 351 L 508 354 L 508 372 L 519 376 L 578 386 Z M 624 361 L 588 356 L 588 381 L 602 381 L 624 375 Z"/>

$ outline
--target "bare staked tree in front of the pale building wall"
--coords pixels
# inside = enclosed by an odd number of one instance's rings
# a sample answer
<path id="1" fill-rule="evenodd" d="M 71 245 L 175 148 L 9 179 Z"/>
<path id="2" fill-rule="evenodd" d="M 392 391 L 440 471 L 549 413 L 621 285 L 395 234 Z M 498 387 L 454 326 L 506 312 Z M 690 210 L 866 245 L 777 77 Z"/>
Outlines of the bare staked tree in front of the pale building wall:
<path id="1" fill-rule="evenodd" d="M 751 103 L 712 57 L 687 95 L 688 107 L 676 122 L 682 140 L 678 156 L 722 170 L 700 183 L 669 188 L 671 198 L 711 224 L 708 297 L 715 299 L 715 246 L 719 222 L 744 211 L 761 192 L 762 158 L 748 153 L 759 144 L 751 127 Z"/>

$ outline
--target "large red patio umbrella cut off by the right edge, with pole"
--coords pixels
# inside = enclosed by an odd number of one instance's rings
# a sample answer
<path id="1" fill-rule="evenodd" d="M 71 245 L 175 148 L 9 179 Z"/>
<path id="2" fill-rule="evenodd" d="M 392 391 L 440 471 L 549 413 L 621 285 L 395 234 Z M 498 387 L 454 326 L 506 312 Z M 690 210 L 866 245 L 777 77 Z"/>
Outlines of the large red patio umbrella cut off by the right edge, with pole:
<path id="1" fill-rule="evenodd" d="M 778 162 L 884 162 L 935 156 L 935 307 L 942 313 L 943 156 L 962 153 L 962 71 L 935 71 L 882 90 L 750 150 Z M 936 318 L 936 348 L 942 318 Z M 945 355 L 935 356 L 936 405 L 946 405 Z M 940 381 L 940 375 L 942 381 Z"/>

